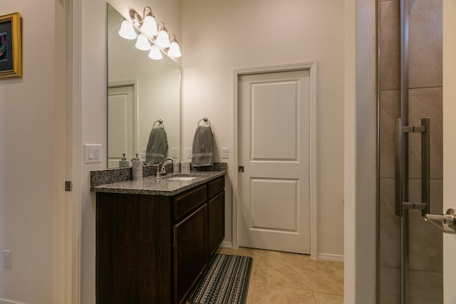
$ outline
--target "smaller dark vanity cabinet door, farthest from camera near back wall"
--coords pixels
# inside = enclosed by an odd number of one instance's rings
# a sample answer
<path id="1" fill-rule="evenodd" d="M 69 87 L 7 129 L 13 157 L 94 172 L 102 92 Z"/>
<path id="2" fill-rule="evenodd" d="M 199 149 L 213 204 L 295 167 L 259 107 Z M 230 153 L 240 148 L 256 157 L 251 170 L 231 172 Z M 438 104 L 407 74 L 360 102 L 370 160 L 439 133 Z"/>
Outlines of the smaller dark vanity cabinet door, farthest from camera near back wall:
<path id="1" fill-rule="evenodd" d="M 209 213 L 209 254 L 212 256 L 225 237 L 225 192 L 207 203 Z"/>

